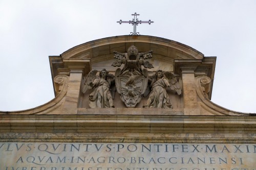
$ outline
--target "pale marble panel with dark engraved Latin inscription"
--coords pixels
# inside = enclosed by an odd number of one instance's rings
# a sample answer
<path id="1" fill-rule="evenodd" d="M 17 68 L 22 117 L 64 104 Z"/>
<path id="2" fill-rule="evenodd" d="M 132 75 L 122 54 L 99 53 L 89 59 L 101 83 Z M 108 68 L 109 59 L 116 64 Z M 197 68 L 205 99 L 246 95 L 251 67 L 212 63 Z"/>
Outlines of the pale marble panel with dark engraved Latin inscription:
<path id="1" fill-rule="evenodd" d="M 0 142 L 0 170 L 256 170 L 256 144 Z"/>

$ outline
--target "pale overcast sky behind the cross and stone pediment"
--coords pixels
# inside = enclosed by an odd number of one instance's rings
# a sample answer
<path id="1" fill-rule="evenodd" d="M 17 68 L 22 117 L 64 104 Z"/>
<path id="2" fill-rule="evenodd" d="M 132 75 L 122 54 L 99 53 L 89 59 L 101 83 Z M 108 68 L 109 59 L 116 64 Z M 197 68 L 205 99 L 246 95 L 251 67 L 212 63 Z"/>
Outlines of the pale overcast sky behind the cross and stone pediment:
<path id="1" fill-rule="evenodd" d="M 137 12 L 162 37 L 217 56 L 211 101 L 256 112 L 256 1 L 3 1 L 0 0 L 0 110 L 24 110 L 54 98 L 48 56 L 84 42 L 133 31 Z"/>

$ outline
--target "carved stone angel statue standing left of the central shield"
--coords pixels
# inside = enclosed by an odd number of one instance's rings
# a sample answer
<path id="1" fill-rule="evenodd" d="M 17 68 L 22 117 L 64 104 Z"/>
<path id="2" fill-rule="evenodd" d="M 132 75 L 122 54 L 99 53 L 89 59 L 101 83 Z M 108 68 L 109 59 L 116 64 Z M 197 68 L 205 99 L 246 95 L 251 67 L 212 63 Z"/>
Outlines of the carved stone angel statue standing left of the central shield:
<path id="1" fill-rule="evenodd" d="M 111 85 L 115 82 L 114 75 L 109 74 L 109 71 L 105 68 L 99 72 L 99 77 L 96 77 L 97 72 L 98 70 L 96 69 L 89 72 L 82 89 L 82 92 L 86 93 L 88 89 L 95 87 L 93 92 L 89 95 L 90 108 L 115 107 L 110 91 Z"/>

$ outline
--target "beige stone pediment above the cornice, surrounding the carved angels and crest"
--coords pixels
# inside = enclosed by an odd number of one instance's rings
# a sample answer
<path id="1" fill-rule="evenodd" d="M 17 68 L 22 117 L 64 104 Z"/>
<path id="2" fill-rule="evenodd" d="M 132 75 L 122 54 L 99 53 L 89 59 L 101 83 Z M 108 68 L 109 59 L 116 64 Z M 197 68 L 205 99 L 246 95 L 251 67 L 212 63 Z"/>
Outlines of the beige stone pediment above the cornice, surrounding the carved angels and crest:
<path id="1" fill-rule="evenodd" d="M 100 110 L 95 112 L 87 110 L 89 107 L 89 94 L 82 93 L 82 79 L 88 72 L 94 68 L 108 66 L 111 74 L 115 74 L 116 67 L 111 66 L 113 63 L 113 51 L 126 53 L 127 49 L 135 45 L 138 52 L 153 50 L 154 57 L 150 62 L 154 68 L 147 68 L 148 76 L 153 76 L 155 71 L 173 71 L 174 75 L 181 83 L 182 94 L 177 96 L 175 91 L 166 89 L 173 109 L 163 109 L 162 114 L 179 110 L 179 115 L 249 115 L 224 109 L 210 102 L 212 83 L 206 86 L 196 81 L 197 77 L 206 76 L 210 80 L 214 78 L 215 57 L 204 57 L 203 54 L 184 44 L 151 36 L 118 36 L 103 38 L 92 42 L 75 46 L 59 57 L 53 56 L 50 59 L 51 69 L 54 81 L 56 98 L 49 103 L 16 112 L 0 112 L 0 114 L 116 114 L 120 108 L 126 106 L 115 94 L 113 104 L 116 107 L 111 110 Z M 167 52 L 166 52 L 167 51 Z M 143 66 L 142 66 L 143 68 Z M 65 80 L 58 82 L 59 76 L 66 76 Z M 203 93 L 203 95 L 201 95 Z M 141 95 L 141 94 L 140 94 Z M 135 109 L 142 108 L 149 96 L 142 97 Z M 83 111 L 79 111 L 84 108 Z M 122 110 L 126 112 L 127 110 Z M 130 111 L 127 113 L 129 114 Z M 137 114 L 147 114 L 141 111 L 134 111 Z M 151 110 L 148 113 L 152 112 Z M 152 112 L 153 113 L 153 112 Z M 159 113 L 159 111 L 157 111 Z"/>

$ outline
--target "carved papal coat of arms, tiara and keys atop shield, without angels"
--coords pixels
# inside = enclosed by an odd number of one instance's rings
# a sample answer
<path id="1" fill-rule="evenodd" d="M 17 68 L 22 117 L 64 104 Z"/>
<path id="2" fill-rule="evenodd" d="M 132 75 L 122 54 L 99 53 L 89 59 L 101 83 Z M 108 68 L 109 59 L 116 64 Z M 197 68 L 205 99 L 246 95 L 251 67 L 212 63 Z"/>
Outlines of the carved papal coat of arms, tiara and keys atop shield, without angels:
<path id="1" fill-rule="evenodd" d="M 153 51 L 139 53 L 138 49 L 132 45 L 127 49 L 127 53 L 114 52 L 116 61 L 112 64 L 123 68 L 118 68 L 115 72 L 116 90 L 120 94 L 121 100 L 126 107 L 135 107 L 141 101 L 141 95 L 147 87 L 147 69 L 153 65 L 145 59 L 152 58 Z M 141 66 L 144 66 L 144 69 Z"/>

